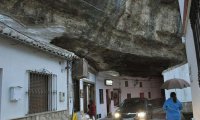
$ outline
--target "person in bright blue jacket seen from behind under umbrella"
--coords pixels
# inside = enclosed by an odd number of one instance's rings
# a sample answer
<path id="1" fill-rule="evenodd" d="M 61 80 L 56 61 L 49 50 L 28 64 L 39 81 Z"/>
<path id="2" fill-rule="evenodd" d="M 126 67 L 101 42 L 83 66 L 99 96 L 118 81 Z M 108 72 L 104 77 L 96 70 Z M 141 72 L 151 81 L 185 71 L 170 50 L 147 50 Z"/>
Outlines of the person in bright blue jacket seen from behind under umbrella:
<path id="1" fill-rule="evenodd" d="M 163 109 L 166 112 L 166 120 L 181 120 L 181 110 L 183 109 L 181 102 L 177 99 L 176 93 L 171 92 Z"/>

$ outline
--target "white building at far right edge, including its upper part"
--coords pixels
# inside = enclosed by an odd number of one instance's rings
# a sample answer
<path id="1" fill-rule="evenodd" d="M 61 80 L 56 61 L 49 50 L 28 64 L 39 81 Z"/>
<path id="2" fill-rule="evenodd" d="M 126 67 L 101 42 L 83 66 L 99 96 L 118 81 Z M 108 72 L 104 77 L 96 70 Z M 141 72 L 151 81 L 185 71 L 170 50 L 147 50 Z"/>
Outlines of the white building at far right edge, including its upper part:
<path id="1" fill-rule="evenodd" d="M 199 81 L 199 0 L 179 0 L 181 17 L 183 23 L 183 37 L 186 45 L 187 60 L 189 66 L 189 75 L 191 80 L 193 117 L 200 120 L 200 81 Z M 196 17 L 196 18 L 195 18 Z M 191 23 L 192 21 L 192 23 Z M 193 28 L 192 28 L 193 25 Z M 196 39 L 195 39 L 196 38 Z"/>

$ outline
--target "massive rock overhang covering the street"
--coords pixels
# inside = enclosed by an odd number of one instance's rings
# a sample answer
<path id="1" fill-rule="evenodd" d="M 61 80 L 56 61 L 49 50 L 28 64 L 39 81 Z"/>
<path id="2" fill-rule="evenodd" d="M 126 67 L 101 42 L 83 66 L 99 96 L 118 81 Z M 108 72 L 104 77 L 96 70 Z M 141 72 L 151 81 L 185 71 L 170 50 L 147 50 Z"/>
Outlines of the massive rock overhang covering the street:
<path id="1" fill-rule="evenodd" d="M 186 60 L 175 0 L 1 0 L 0 14 L 98 71 L 161 76 Z"/>

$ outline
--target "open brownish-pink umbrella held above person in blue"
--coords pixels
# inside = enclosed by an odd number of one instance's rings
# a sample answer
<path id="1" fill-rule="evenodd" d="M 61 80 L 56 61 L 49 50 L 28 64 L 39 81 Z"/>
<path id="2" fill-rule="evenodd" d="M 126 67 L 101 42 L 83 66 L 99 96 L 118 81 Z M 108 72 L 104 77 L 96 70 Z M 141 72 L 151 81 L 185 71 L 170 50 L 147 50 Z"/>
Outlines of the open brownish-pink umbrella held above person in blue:
<path id="1" fill-rule="evenodd" d="M 163 85 L 161 86 L 161 89 L 182 89 L 190 87 L 190 84 L 183 80 L 183 79 L 178 79 L 178 78 L 173 78 L 165 81 Z"/>

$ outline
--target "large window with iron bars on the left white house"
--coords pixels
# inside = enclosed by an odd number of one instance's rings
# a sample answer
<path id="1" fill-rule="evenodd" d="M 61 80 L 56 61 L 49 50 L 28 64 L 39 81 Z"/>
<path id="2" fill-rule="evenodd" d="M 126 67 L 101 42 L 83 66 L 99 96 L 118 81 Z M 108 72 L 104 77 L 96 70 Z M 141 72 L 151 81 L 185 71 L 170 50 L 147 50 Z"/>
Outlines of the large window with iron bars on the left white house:
<path id="1" fill-rule="evenodd" d="M 56 110 L 56 75 L 29 73 L 29 114 Z"/>

